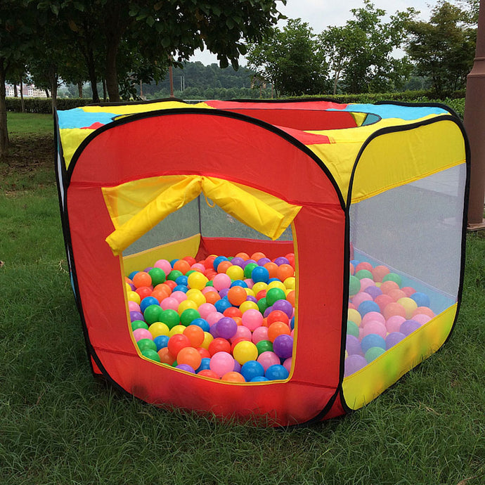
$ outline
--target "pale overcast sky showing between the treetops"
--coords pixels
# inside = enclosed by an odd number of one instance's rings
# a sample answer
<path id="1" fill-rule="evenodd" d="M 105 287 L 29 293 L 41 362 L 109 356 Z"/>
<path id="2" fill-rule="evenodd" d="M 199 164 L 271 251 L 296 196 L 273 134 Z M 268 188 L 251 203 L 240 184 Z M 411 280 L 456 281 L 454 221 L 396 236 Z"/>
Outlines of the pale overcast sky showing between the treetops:
<path id="1" fill-rule="evenodd" d="M 437 0 L 373 0 L 373 4 L 377 8 L 382 8 L 388 15 L 414 7 L 420 11 L 420 19 L 427 21 Z M 350 9 L 361 6 L 363 6 L 361 0 L 287 0 L 285 6 L 278 2 L 278 10 L 281 13 L 287 18 L 301 18 L 304 22 L 308 22 L 316 34 L 329 25 L 344 25 L 352 18 Z M 280 22 L 278 27 L 283 27 L 285 23 Z M 218 62 L 216 56 L 209 51 L 199 52 L 190 60 L 200 60 L 205 65 Z M 245 65 L 243 58 L 240 58 L 240 64 Z"/>

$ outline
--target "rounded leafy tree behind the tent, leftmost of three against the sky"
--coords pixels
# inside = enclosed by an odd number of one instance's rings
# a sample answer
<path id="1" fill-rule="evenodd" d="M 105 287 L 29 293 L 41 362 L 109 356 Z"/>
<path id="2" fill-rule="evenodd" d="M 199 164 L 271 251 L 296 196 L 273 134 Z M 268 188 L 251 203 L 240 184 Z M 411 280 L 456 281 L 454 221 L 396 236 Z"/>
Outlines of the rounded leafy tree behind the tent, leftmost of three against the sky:
<path id="1" fill-rule="evenodd" d="M 318 94 L 329 85 L 327 66 L 308 23 L 291 19 L 283 30 L 273 28 L 258 44 L 251 44 L 247 65 L 280 94 Z"/>

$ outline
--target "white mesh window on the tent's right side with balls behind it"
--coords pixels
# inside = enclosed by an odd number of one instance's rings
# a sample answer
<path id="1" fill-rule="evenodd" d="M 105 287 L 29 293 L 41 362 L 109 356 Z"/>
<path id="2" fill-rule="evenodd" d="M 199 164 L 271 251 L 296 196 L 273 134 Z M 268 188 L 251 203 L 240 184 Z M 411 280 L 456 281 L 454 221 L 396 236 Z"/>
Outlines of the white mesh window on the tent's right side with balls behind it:
<path id="1" fill-rule="evenodd" d="M 457 301 L 465 170 L 352 205 L 346 376 Z"/>

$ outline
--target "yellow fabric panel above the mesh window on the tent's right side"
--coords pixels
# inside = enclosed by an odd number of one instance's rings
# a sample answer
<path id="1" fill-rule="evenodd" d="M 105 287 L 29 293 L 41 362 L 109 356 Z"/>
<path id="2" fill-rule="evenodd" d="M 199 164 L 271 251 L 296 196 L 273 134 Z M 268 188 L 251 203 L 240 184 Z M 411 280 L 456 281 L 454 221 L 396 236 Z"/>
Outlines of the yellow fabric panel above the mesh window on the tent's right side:
<path id="1" fill-rule="evenodd" d="M 455 167 L 465 157 L 463 134 L 450 120 L 382 134 L 370 141 L 358 162 L 352 202 Z"/>

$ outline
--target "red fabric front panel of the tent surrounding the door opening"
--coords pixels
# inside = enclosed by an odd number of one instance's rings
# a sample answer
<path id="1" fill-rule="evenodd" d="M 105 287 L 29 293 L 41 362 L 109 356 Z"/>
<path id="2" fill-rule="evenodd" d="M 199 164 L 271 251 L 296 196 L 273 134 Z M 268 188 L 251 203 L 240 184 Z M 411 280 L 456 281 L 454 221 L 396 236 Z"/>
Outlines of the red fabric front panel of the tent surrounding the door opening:
<path id="1" fill-rule="evenodd" d="M 302 205 L 295 218 L 299 290 L 295 371 L 289 382 L 209 382 L 136 353 L 119 258 L 105 243 L 113 226 L 101 187 L 194 173 L 233 180 Z M 151 403 L 218 415 L 269 413 L 282 425 L 310 420 L 325 407 L 340 375 L 344 212 L 335 187 L 309 155 L 271 131 L 230 117 L 138 119 L 103 131 L 86 146 L 72 172 L 67 210 L 89 340 L 105 372 L 121 387 Z M 207 240 L 207 247 L 212 243 Z M 248 247 L 273 245 L 257 243 L 249 241 Z M 235 241 L 228 244 L 233 247 Z"/>

